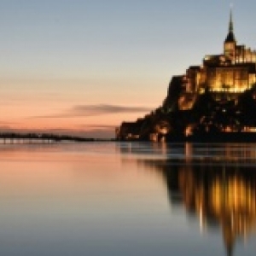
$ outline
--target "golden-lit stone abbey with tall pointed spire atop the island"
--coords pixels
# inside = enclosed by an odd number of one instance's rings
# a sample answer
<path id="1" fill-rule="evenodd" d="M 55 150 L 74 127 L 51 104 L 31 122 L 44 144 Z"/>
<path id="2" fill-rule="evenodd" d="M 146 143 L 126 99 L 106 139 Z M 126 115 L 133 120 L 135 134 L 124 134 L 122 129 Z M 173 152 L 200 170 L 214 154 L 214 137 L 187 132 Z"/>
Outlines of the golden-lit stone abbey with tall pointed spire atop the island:
<path id="1" fill-rule="evenodd" d="M 201 66 L 189 67 L 185 75 L 174 77 L 170 85 L 177 83 L 177 80 L 182 81 L 184 96 L 201 93 L 207 86 L 217 98 L 224 92 L 234 97 L 256 82 L 256 51 L 237 44 L 232 12 L 223 53 L 206 55 Z M 189 105 L 184 104 L 180 107 L 189 108 Z"/>

